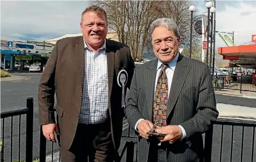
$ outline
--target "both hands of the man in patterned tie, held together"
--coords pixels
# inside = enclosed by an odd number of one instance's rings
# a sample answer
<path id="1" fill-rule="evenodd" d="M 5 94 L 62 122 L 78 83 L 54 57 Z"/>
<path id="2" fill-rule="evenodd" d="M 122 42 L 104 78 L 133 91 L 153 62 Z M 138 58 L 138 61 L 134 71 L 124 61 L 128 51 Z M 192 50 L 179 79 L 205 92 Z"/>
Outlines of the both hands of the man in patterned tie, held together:
<path id="1" fill-rule="evenodd" d="M 182 139 L 182 129 L 178 125 L 167 125 L 165 127 L 154 128 L 153 123 L 149 120 L 141 120 L 137 125 L 140 136 L 148 139 L 152 135 L 148 135 L 147 132 L 157 132 L 159 134 L 165 134 L 165 137 L 159 139 L 161 142 L 169 141 L 174 143 L 175 141 Z"/>

